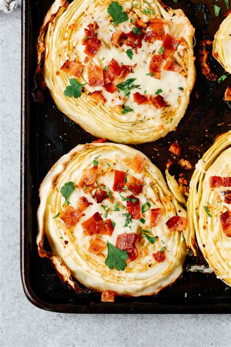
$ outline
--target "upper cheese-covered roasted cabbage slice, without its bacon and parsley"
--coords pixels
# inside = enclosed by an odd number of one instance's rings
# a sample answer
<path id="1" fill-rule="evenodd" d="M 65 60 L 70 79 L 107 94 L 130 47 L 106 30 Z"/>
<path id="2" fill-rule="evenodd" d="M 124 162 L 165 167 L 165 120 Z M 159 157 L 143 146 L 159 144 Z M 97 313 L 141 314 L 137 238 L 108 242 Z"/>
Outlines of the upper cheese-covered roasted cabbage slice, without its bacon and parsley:
<path id="1" fill-rule="evenodd" d="M 166 12 L 157 0 L 150 5 L 154 15 L 143 13 L 143 9 L 148 7 L 143 1 L 138 1 L 137 7 L 130 12 L 132 1 L 119 1 L 119 3 L 128 13 L 128 20 L 117 24 L 116 29 L 111 16 L 107 13 L 110 1 L 92 3 L 90 0 L 74 0 L 60 17 L 57 16 L 58 18 L 52 21 L 45 38 L 45 82 L 60 110 L 94 135 L 124 143 L 153 141 L 175 128 L 188 105 L 194 83 L 194 29 L 181 10 L 169 9 Z M 143 40 L 142 47 L 137 49 L 137 54 L 133 49 L 132 60 L 126 54 L 126 50 L 131 47 L 125 44 L 119 47 L 112 46 L 113 32 L 119 29 L 126 33 L 131 31 L 134 23 L 130 23 L 130 19 L 135 20 L 138 17 L 145 22 L 151 18 L 161 18 L 165 23 L 166 34 L 170 33 L 176 40 L 182 37 L 185 39 L 185 47 L 180 44 L 173 56 L 174 60 L 183 67 L 182 73 L 162 70 L 160 80 L 147 76 L 150 73 L 151 57 L 157 53 L 162 44 L 160 40 L 155 40 L 154 43 Z M 124 96 L 123 91 L 111 94 L 101 86 L 90 87 L 88 84 L 84 87 L 86 92 L 82 93 L 78 99 L 74 97 L 70 99 L 63 95 L 63 90 L 69 85 L 69 79 L 73 76 L 60 71 L 60 67 L 67 59 L 83 63 L 86 57 L 83 52 L 85 46 L 82 44 L 82 39 L 85 37 L 84 28 L 87 28 L 94 20 L 99 26 L 96 33 L 101 40 L 101 47 L 95 57 L 84 64 L 81 78 L 77 80 L 80 83 L 88 82 L 87 66 L 90 64 L 107 66 L 112 58 L 118 61 L 120 66 L 122 63 L 126 65 L 136 63 L 134 73 L 130 73 L 125 80 L 136 78 L 134 83 L 140 85 L 140 89 L 132 89 L 128 98 Z M 150 29 L 150 27 L 147 28 L 147 30 Z M 164 63 L 165 61 L 162 65 Z M 155 109 L 152 104 L 138 105 L 134 102 L 135 92 L 144 94 L 146 91 L 146 94 L 155 96 L 157 89 L 162 89 L 163 92 L 160 95 L 168 106 Z M 88 96 L 89 92 L 96 90 L 102 92 L 107 101 L 105 104 L 96 105 Z M 131 107 L 134 112 L 121 114 L 122 105 Z"/>

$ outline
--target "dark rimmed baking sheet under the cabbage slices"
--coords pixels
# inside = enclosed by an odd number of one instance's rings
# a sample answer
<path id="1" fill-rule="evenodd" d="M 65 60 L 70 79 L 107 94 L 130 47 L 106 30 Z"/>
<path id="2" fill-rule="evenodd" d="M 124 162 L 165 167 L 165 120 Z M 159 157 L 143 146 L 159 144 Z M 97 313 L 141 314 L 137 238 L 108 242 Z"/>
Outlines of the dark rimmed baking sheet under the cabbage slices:
<path id="1" fill-rule="evenodd" d="M 101 303 L 100 294 L 96 292 L 89 294 L 83 291 L 77 295 L 61 282 L 49 260 L 39 258 L 36 245 L 39 184 L 63 154 L 78 143 L 95 140 L 57 109 L 48 91 L 44 94 L 44 103 L 33 100 L 36 42 L 40 25 L 52 2 L 22 1 L 21 276 L 27 298 L 40 308 L 72 313 L 231 312 L 231 289 L 228 286 L 216 279 L 214 274 L 186 270 L 190 265 L 203 263 L 203 257 L 187 256 L 181 278 L 159 294 L 139 298 L 116 297 L 114 304 Z M 218 3 L 215 0 L 203 3 L 197 0 L 178 0 L 177 3 L 167 0 L 165 3 L 173 8 L 182 8 L 196 28 L 195 55 L 198 54 L 200 41 L 213 39 L 227 12 L 223 0 Z M 214 17 L 214 4 L 222 7 L 219 17 Z M 209 62 L 218 76 L 224 73 L 212 57 Z M 195 163 L 212 145 L 215 136 L 227 131 L 231 125 L 231 109 L 223 100 L 227 85 L 231 85 L 231 77 L 221 84 L 210 82 L 201 74 L 197 61 L 195 64 L 197 81 L 177 131 L 154 143 L 135 146 L 164 173 L 167 160 L 172 158 L 168 151 L 170 143 L 178 140 L 183 157 L 193 164 L 193 168 L 184 171 L 173 165 L 172 170 L 176 175 L 185 172 L 188 181 Z M 46 247 L 49 246 L 46 244 Z"/>

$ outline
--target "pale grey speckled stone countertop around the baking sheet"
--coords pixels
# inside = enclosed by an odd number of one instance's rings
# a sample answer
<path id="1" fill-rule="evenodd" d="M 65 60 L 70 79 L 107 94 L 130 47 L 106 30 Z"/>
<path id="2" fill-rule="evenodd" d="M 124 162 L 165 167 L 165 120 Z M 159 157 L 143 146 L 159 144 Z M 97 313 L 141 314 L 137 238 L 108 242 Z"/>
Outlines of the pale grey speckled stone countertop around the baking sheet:
<path id="1" fill-rule="evenodd" d="M 19 265 L 20 54 L 18 7 L 0 13 L 0 346 L 230 346 L 229 315 L 68 315 L 26 299 Z"/>

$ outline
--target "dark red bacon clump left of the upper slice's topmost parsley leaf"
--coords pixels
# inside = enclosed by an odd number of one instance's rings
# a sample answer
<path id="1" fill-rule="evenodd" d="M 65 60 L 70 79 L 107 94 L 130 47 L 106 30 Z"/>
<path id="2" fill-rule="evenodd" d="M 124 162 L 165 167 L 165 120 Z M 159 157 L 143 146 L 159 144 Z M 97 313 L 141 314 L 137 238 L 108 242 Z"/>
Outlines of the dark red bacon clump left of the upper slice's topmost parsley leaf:
<path id="1" fill-rule="evenodd" d="M 98 29 L 98 25 L 95 21 L 88 25 L 88 29 L 84 29 L 85 37 L 82 40 L 82 44 L 86 46 L 84 53 L 89 57 L 94 57 L 101 46 L 101 41 L 97 39 L 95 33 L 96 29 Z"/>

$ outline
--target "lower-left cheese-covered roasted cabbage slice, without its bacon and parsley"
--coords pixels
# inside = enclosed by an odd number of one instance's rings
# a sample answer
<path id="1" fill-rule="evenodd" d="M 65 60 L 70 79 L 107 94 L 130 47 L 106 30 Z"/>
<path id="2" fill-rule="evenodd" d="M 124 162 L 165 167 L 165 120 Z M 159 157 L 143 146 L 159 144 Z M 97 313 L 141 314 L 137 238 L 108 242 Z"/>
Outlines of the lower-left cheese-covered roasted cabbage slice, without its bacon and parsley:
<path id="1" fill-rule="evenodd" d="M 165 223 L 175 215 L 185 217 L 186 212 L 169 191 L 160 171 L 140 152 L 138 153 L 147 162 L 141 174 L 135 173 L 131 165 L 136 153 L 137 151 L 133 148 L 112 143 L 78 145 L 56 163 L 41 184 L 41 203 L 38 211 L 39 249 L 41 249 L 39 243 L 42 240 L 45 227 L 46 236 L 55 254 L 54 257 L 61 260 L 59 272 L 69 283 L 70 277 L 65 275 L 67 273 L 66 267 L 85 286 L 93 287 L 99 291 L 114 290 L 121 295 L 138 296 L 158 292 L 171 284 L 182 272 L 186 255 L 184 239 L 188 237 L 189 230 L 186 228 L 184 234 L 170 232 Z M 105 199 L 101 204 L 97 204 L 93 198 L 95 189 L 89 194 L 76 187 L 69 198 L 71 206 L 76 208 L 77 200 L 81 196 L 85 196 L 92 205 L 84 210 L 85 216 L 82 216 L 74 227 L 67 229 L 59 217 L 53 218 L 58 212 L 65 209 L 62 206 L 65 199 L 62 197 L 60 189 L 69 181 L 78 184 L 83 170 L 92 167 L 93 160 L 98 155 L 100 157 L 97 159 L 97 182 L 98 184 L 105 184 L 107 189 L 112 191 L 114 201 L 110 202 L 110 200 Z M 106 163 L 111 166 L 109 167 Z M 133 175 L 145 182 L 142 193 L 136 197 L 140 200 L 140 207 L 149 202 L 151 208 L 161 208 L 162 215 L 155 227 L 149 228 L 150 210 L 142 213 L 145 224 L 132 219 L 132 223 L 124 226 L 125 216 L 123 213 L 126 213 L 127 210 L 126 201 L 122 201 L 121 196 L 126 197 L 131 192 L 113 191 L 113 170 L 115 169 L 125 172 L 128 170 L 128 180 Z M 53 184 L 54 178 L 56 178 L 55 184 Z M 116 204 L 119 204 L 119 211 L 115 211 Z M 105 217 L 105 209 L 108 208 L 110 210 Z M 104 220 L 110 218 L 116 223 L 112 236 L 98 234 L 89 236 L 83 231 L 81 223 L 96 212 L 101 213 Z M 135 261 L 127 263 L 124 271 L 117 271 L 116 268 L 112 270 L 105 265 L 107 247 L 98 255 L 88 251 L 90 241 L 95 237 L 100 238 L 105 243 L 108 241 L 116 245 L 116 238 L 119 234 L 139 233 L 140 228 L 149 228 L 153 236 L 158 237 L 154 244 L 151 244 L 146 237 L 141 237 L 141 241 L 135 243 L 138 257 Z M 68 244 L 65 241 L 68 241 Z M 161 250 L 162 247 L 166 247 L 166 259 L 163 263 L 157 263 L 153 253 Z"/>

